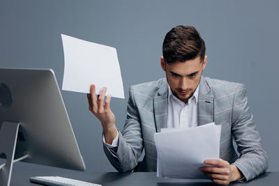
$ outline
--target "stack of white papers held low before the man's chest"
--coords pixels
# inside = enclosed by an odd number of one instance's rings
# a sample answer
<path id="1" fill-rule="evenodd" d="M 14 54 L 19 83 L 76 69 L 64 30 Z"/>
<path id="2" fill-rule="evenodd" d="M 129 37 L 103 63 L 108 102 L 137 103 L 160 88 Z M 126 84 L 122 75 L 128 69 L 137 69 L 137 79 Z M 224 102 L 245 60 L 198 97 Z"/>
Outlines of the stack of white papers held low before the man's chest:
<path id="1" fill-rule="evenodd" d="M 199 167 L 206 159 L 219 159 L 221 126 L 215 123 L 155 133 L 160 178 L 209 179 Z"/>

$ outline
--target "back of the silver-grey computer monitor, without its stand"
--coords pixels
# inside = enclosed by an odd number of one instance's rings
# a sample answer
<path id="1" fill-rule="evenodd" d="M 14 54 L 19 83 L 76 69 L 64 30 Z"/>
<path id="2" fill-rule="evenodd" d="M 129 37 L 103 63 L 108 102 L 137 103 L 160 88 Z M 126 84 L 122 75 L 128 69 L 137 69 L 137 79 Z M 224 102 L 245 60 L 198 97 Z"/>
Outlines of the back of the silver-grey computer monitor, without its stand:
<path id="1" fill-rule="evenodd" d="M 85 170 L 53 70 L 0 68 L 0 104 L 0 131 L 20 123 L 15 159 Z"/>

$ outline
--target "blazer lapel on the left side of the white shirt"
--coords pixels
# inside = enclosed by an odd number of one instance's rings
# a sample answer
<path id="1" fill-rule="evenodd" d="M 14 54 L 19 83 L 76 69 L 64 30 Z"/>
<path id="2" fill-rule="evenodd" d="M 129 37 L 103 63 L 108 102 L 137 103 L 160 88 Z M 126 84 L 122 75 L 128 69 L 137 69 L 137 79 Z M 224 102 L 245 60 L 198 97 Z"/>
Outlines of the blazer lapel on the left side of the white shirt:
<path id="1" fill-rule="evenodd" d="M 167 127 L 167 80 L 163 79 L 163 83 L 158 90 L 158 96 L 153 98 L 153 107 L 155 114 L 156 132 L 160 132 L 161 128 Z"/>

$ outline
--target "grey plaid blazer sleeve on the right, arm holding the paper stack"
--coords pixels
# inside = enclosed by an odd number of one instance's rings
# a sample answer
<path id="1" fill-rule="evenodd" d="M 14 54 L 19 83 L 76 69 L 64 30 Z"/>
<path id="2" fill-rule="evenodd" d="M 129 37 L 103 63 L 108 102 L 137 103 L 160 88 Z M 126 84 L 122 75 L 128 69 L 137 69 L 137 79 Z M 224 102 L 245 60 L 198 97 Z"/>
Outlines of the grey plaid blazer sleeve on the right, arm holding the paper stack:
<path id="1" fill-rule="evenodd" d="M 243 173 L 246 181 L 264 173 L 268 168 L 267 154 L 250 114 L 246 88 L 241 84 L 234 95 L 232 107 L 232 134 L 240 153 L 233 164 Z"/>

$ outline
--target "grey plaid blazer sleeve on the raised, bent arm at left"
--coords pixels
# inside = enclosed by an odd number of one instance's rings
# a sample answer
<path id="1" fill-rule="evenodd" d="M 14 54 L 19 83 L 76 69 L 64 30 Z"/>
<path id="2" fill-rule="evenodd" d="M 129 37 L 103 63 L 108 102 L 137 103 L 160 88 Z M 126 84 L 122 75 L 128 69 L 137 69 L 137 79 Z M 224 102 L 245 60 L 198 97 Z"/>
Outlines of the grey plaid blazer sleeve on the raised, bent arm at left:
<path id="1" fill-rule="evenodd" d="M 127 118 L 122 133 L 119 132 L 119 146 L 108 148 L 103 144 L 105 155 L 110 163 L 119 172 L 133 171 L 137 166 L 143 149 L 142 130 L 140 127 L 140 114 L 135 104 L 133 86 L 129 90 Z"/>

